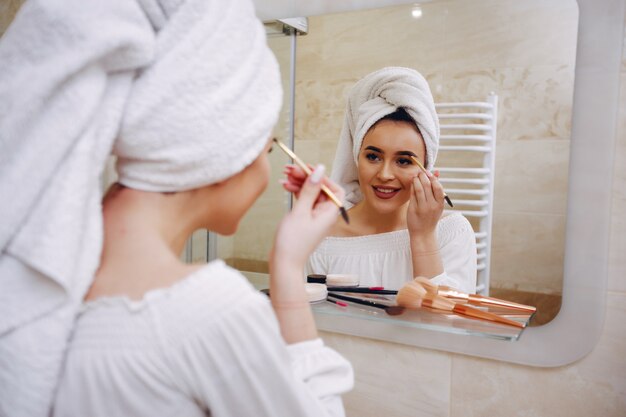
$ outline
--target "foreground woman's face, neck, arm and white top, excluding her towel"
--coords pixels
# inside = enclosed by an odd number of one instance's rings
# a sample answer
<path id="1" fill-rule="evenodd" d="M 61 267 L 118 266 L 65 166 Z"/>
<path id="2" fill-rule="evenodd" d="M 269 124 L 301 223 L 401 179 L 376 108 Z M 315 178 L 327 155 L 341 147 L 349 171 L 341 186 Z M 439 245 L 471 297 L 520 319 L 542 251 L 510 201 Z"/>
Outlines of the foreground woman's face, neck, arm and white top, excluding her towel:
<path id="1" fill-rule="evenodd" d="M 179 261 L 194 230 L 236 231 L 267 185 L 268 151 L 269 143 L 241 172 L 189 191 L 113 185 L 104 199 L 101 265 L 76 324 L 55 416 L 343 415 L 339 395 L 351 388 L 351 367 L 317 338 L 300 280 L 338 214 L 320 195 L 323 166 L 276 234 L 273 311 L 221 260 Z"/>

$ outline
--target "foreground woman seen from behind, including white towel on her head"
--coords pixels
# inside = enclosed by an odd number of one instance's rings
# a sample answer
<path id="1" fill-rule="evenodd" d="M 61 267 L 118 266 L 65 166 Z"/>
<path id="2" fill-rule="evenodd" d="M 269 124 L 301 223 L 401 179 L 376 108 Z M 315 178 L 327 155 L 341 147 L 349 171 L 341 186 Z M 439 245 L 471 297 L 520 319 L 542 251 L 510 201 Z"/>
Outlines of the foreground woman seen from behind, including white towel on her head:
<path id="1" fill-rule="evenodd" d="M 178 258 L 267 183 L 282 93 L 252 2 L 32 0 L 0 57 L 2 411 L 343 415 L 352 370 L 301 280 L 337 216 L 323 170 L 278 230 L 271 305 L 223 262 Z"/>

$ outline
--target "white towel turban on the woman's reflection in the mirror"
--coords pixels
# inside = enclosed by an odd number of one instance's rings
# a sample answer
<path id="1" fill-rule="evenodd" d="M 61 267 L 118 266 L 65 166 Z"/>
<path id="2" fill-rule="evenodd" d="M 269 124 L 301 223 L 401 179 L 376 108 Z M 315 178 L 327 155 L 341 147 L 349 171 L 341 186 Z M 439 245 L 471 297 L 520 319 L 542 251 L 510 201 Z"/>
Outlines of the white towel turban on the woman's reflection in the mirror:
<path id="1" fill-rule="evenodd" d="M 439 118 L 428 82 L 410 68 L 387 67 L 359 80 L 350 90 L 331 178 L 346 191 L 348 207 L 363 199 L 357 169 L 361 144 L 380 119 L 404 108 L 415 120 L 426 144 L 426 169 L 432 169 L 439 147 Z"/>

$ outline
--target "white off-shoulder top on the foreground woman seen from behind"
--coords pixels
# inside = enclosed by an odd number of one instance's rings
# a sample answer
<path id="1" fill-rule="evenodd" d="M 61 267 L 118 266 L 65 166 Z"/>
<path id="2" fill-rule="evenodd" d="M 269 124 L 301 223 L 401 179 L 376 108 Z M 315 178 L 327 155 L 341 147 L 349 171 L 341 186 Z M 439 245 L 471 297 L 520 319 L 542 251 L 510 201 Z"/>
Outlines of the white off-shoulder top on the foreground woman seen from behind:
<path id="1" fill-rule="evenodd" d="M 352 367 L 321 339 L 286 345 L 264 294 L 214 261 L 142 301 L 87 303 L 54 416 L 343 416 Z"/>

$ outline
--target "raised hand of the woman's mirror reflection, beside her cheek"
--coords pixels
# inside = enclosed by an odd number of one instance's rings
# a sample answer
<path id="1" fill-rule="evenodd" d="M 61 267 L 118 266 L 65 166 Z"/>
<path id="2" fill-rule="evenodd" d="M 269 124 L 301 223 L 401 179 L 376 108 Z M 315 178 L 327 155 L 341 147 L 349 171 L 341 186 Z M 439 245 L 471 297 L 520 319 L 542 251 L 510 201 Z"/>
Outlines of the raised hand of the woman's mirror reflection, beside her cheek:
<path id="1" fill-rule="evenodd" d="M 413 178 L 413 189 L 407 213 L 407 227 L 412 240 L 435 236 L 444 206 L 444 191 L 439 179 L 430 172 Z"/>

